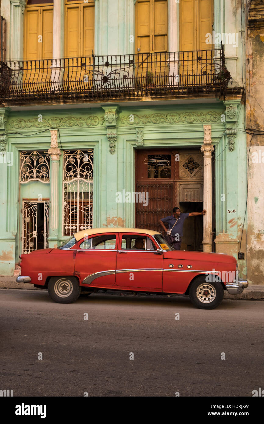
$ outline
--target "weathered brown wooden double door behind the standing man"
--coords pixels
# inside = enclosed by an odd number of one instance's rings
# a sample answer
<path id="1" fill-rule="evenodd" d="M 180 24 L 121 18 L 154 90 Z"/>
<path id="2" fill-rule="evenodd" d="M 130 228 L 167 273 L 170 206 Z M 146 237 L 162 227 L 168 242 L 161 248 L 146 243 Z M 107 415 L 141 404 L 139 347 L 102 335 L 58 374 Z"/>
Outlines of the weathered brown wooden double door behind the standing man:
<path id="1" fill-rule="evenodd" d="M 135 203 L 136 228 L 163 232 L 159 220 L 172 215 L 175 206 L 184 213 L 202 211 L 203 156 L 199 149 L 137 150 L 136 191 L 148 198 L 148 202 Z M 203 250 L 202 240 L 203 217 L 186 219 L 182 249 Z"/>

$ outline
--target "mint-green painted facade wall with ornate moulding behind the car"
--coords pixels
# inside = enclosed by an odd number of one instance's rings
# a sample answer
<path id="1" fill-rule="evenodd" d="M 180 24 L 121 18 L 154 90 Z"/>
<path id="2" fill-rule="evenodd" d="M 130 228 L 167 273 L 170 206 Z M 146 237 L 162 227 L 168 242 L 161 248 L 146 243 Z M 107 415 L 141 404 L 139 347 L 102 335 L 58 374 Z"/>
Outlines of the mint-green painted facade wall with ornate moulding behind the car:
<path id="1" fill-rule="evenodd" d="M 133 43 L 129 41 L 129 36 L 134 35 L 134 3 L 133 0 L 95 0 L 95 54 L 134 52 Z M 12 16 L 14 18 L 9 21 L 8 28 L 11 33 L 14 25 L 22 22 L 22 2 L 11 3 L 11 15 L 8 15 L 7 0 L 3 0 L 3 8 L 9 20 Z M 14 14 L 14 10 L 17 13 Z M 214 15 L 216 32 L 239 32 L 239 11 L 235 0 L 215 0 Z M 63 20 L 63 13 L 61 19 Z M 170 39 L 172 25 L 173 22 L 170 21 L 169 45 L 172 42 Z M 61 46 L 63 47 L 63 43 Z M 237 86 L 242 86 L 242 67 L 245 63 L 242 50 L 245 51 L 244 47 L 242 49 L 242 43 L 239 43 L 236 49 L 232 46 L 225 48 L 226 66 L 231 71 Z M 7 55 L 11 59 L 21 58 L 21 43 L 15 45 L 12 39 Z M 213 160 L 215 160 L 216 240 L 226 245 L 226 253 L 231 252 L 237 257 L 247 195 L 244 105 L 235 95 L 225 102 L 216 98 L 201 98 L 199 95 L 182 101 L 175 98 L 170 102 L 164 99 L 153 103 L 153 100 L 155 98 L 136 103 L 133 103 L 133 100 L 119 103 L 113 100 L 101 104 L 50 107 L 36 104 L 31 108 L 21 106 L 17 110 L 8 107 L 0 109 L 3 118 L 0 121 L 2 150 L 13 153 L 12 166 L 8 166 L 7 163 L 0 164 L 0 274 L 13 275 L 14 265 L 19 262 L 22 249 L 22 199 L 38 198 L 40 194 L 42 198 L 51 197 L 52 181 L 49 184 L 40 181 L 19 184 L 19 152 L 48 150 L 50 129 L 59 130 L 58 148 L 61 152 L 94 149 L 93 227 L 133 227 L 135 205 L 117 203 L 116 192 L 122 192 L 123 189 L 132 192 L 136 189 L 135 149 L 197 148 L 203 144 L 203 125 L 211 125 L 212 144 L 215 145 Z M 116 125 L 113 126 L 117 131 L 117 140 L 111 145 L 107 132 L 113 128 L 106 121 L 106 109 L 109 107 L 117 113 Z M 234 107 L 236 110 L 232 114 L 230 111 Z M 39 115 L 42 115 L 40 122 Z M 131 115 L 133 122 L 130 120 Z M 138 132 L 142 129 L 143 145 Z M 233 129 L 236 131 L 232 133 Z M 234 146 L 233 150 L 230 148 L 231 145 Z M 59 199 L 58 233 L 50 232 L 50 247 L 60 244 L 61 240 L 67 238 L 62 236 L 62 178 L 61 155 L 56 181 Z M 228 212 L 233 210 L 235 212 Z M 247 217 L 244 231 L 246 226 Z M 230 249 L 230 240 L 233 240 L 232 243 L 238 248 Z M 241 251 L 246 251 L 246 242 L 244 237 Z M 242 271 L 240 278 L 246 278 L 246 256 L 245 260 L 240 261 L 239 268 Z"/>

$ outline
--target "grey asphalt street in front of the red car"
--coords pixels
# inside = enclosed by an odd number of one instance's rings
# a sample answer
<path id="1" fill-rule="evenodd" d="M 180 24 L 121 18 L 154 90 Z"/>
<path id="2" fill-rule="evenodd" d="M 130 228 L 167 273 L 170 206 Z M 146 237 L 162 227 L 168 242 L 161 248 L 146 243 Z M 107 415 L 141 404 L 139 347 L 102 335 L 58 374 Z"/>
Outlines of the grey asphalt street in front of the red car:
<path id="1" fill-rule="evenodd" d="M 263 318 L 257 300 L 199 310 L 181 296 L 97 293 L 57 304 L 44 290 L 0 290 L 0 389 L 252 396 L 264 388 Z"/>

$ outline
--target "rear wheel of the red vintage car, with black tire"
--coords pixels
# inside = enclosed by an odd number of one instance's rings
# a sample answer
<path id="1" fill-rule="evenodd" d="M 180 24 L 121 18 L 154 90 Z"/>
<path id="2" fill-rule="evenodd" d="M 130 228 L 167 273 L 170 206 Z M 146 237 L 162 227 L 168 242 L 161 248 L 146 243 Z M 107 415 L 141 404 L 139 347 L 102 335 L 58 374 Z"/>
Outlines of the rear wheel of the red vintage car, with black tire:
<path id="1" fill-rule="evenodd" d="M 75 277 L 51 277 L 48 292 L 57 303 L 72 303 L 80 296 L 81 287 Z"/>

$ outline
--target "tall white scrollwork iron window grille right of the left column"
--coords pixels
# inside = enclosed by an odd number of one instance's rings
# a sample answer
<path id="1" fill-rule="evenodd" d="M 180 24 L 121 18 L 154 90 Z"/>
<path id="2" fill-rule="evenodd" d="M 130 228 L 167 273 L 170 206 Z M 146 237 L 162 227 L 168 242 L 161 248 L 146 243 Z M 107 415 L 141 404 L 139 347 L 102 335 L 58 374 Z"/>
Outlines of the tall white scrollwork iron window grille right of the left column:
<path id="1" fill-rule="evenodd" d="M 94 151 L 63 153 L 63 228 L 64 236 L 92 228 Z"/>

